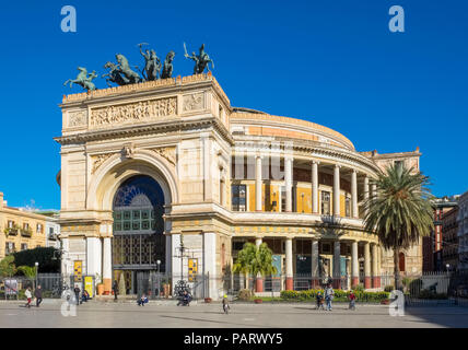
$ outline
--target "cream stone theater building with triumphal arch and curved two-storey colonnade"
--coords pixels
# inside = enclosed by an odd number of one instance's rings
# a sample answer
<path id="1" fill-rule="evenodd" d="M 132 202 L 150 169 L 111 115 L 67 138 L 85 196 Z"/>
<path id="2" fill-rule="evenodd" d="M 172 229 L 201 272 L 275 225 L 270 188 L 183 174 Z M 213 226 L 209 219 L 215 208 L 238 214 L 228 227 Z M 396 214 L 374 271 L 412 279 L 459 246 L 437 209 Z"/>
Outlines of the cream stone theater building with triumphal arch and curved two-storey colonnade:
<path id="1" fill-rule="evenodd" d="M 359 152 L 327 127 L 233 107 L 211 74 L 71 94 L 60 107 L 65 273 L 79 260 L 109 290 L 120 273 L 132 284 L 196 272 L 217 299 L 245 242 L 273 250 L 281 289 L 307 275 L 382 288 L 393 273 L 362 201 L 386 165 L 418 171 L 418 149 Z M 421 252 L 402 261 L 421 270 Z"/>

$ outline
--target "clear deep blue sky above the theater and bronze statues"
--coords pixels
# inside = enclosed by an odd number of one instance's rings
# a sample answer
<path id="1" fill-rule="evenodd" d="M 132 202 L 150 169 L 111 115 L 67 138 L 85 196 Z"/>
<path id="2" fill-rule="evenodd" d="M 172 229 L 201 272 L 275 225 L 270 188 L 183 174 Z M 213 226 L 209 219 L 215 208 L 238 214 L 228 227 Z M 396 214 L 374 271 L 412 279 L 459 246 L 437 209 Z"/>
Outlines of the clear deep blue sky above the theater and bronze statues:
<path id="1" fill-rule="evenodd" d="M 60 9 L 77 9 L 77 33 Z M 405 33 L 388 30 L 399 4 Z M 448 1 L 4 1 L 0 4 L 0 191 L 10 206 L 60 208 L 62 83 L 104 72 L 137 44 L 183 57 L 206 44 L 233 106 L 336 129 L 359 151 L 421 149 L 436 196 L 468 189 L 468 3 Z M 97 88 L 105 88 L 98 79 Z"/>

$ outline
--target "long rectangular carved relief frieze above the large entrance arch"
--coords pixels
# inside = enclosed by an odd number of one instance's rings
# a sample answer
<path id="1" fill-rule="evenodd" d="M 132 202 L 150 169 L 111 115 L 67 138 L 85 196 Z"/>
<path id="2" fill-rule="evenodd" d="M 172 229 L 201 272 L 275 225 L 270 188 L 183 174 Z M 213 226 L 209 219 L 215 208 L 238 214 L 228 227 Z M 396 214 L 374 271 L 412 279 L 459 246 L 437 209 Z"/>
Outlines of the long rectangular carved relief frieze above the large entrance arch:
<path id="1" fill-rule="evenodd" d="M 140 101 L 91 109 L 91 127 L 164 119 L 177 114 L 177 97 Z"/>

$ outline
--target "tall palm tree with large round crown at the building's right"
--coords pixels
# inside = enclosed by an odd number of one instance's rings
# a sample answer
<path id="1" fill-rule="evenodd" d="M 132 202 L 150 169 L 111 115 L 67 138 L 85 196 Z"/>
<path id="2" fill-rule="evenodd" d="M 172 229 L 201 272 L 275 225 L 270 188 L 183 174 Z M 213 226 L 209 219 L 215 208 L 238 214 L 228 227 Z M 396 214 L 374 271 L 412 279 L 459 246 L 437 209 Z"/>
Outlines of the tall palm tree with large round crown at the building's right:
<path id="1" fill-rule="evenodd" d="M 398 164 L 370 183 L 376 185 L 376 194 L 364 202 L 365 230 L 376 233 L 384 248 L 394 250 L 395 288 L 400 289 L 400 250 L 429 235 L 434 226 L 429 177 Z"/>

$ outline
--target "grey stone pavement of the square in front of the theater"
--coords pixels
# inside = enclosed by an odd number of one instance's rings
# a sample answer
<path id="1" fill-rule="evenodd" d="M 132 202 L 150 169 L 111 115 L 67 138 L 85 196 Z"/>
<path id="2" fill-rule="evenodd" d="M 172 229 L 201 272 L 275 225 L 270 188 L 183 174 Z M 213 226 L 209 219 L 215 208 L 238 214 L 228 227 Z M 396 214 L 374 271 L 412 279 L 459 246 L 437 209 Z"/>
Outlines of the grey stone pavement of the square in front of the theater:
<path id="1" fill-rule="evenodd" d="M 16 327 L 136 327 L 136 328 L 239 328 L 239 327 L 468 327 L 468 308 L 456 306 L 412 307 L 402 317 L 388 314 L 385 305 L 359 305 L 349 311 L 347 304 L 335 305 L 331 312 L 316 311 L 312 304 L 232 304 L 224 315 L 220 304 L 194 303 L 176 306 L 175 301 L 136 303 L 87 302 L 78 306 L 77 316 L 62 316 L 61 301 L 45 300 L 39 308 L 22 307 L 24 302 L 0 302 L 0 328 Z"/>

